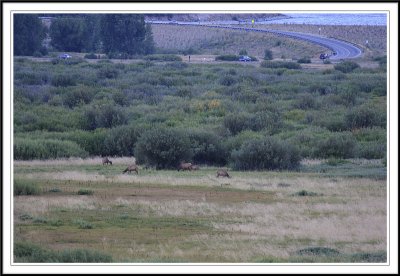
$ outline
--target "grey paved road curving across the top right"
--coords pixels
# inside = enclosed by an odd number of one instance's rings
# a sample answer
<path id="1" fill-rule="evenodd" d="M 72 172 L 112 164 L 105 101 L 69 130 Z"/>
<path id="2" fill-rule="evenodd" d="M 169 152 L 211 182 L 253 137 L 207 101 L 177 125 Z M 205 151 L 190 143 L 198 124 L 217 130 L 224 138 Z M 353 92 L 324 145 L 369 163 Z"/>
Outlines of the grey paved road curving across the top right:
<path id="1" fill-rule="evenodd" d="M 210 28 L 222 28 L 222 29 L 231 29 L 231 30 L 241 30 L 248 32 L 264 32 L 264 33 L 273 33 L 276 35 L 286 36 L 294 39 L 305 40 L 310 43 L 318 44 L 323 46 L 332 52 L 336 52 L 336 55 L 331 55 L 330 59 L 350 59 L 357 58 L 361 56 L 361 49 L 354 46 L 353 44 L 337 40 L 334 38 L 328 38 L 318 35 L 306 34 L 306 33 L 296 33 L 296 32 L 286 32 L 286 31 L 277 31 L 270 29 L 255 29 L 255 28 L 244 28 L 244 27 L 231 27 L 231 26 L 222 26 L 222 25 L 208 25 L 208 24 L 198 24 L 198 23 L 187 23 L 187 22 L 149 22 L 152 24 L 173 24 L 173 25 L 191 25 L 191 26 L 202 26 L 202 27 L 210 27 Z"/>

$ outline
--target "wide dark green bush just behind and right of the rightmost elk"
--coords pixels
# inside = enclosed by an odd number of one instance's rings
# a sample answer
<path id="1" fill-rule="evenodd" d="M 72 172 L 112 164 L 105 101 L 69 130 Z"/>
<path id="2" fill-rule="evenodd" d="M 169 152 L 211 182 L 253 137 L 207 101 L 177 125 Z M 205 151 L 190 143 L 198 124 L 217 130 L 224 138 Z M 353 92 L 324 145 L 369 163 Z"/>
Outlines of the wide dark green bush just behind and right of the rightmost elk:
<path id="1" fill-rule="evenodd" d="M 295 169 L 300 164 L 297 148 L 274 137 L 245 142 L 232 153 L 233 166 L 238 170 Z"/>

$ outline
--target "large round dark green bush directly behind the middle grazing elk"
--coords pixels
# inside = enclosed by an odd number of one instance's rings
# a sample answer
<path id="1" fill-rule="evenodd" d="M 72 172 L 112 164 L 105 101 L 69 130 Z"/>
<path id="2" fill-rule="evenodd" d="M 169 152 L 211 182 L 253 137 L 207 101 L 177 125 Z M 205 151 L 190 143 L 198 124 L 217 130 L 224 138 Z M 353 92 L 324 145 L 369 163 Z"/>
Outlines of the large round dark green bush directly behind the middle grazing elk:
<path id="1" fill-rule="evenodd" d="M 191 159 L 190 140 L 182 131 L 156 128 L 145 132 L 135 146 L 135 157 L 140 164 L 157 169 L 173 169 Z"/>

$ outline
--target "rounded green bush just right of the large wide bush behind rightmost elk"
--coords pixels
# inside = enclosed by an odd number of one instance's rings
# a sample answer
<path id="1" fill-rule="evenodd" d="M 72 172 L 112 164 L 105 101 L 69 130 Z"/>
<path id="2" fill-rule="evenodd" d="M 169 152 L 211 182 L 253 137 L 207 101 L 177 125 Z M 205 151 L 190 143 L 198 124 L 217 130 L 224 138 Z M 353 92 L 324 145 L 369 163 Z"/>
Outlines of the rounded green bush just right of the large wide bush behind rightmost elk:
<path id="1" fill-rule="evenodd" d="M 334 132 L 330 137 L 318 143 L 314 152 L 322 158 L 352 158 L 355 156 L 356 139 L 349 132 Z"/>

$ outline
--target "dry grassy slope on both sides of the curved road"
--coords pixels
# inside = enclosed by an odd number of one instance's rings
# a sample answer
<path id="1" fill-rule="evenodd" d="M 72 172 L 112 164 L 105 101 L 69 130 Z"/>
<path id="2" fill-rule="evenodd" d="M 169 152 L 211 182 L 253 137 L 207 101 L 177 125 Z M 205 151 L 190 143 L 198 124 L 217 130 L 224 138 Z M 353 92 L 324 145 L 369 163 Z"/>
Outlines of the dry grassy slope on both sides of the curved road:
<path id="1" fill-rule="evenodd" d="M 251 26 L 241 25 L 241 27 L 250 28 Z M 364 56 L 368 58 L 386 54 L 387 29 L 385 26 L 260 24 L 255 28 L 303 32 L 346 40 L 362 47 Z M 201 54 L 238 54 L 244 49 L 249 55 L 262 59 L 265 49 L 270 49 L 274 58 L 298 59 L 318 57 L 325 51 L 325 48 L 315 44 L 265 33 L 157 24 L 152 25 L 152 31 L 158 48 L 194 49 L 199 50 Z M 368 40 L 368 47 L 365 44 L 366 40 Z"/>

